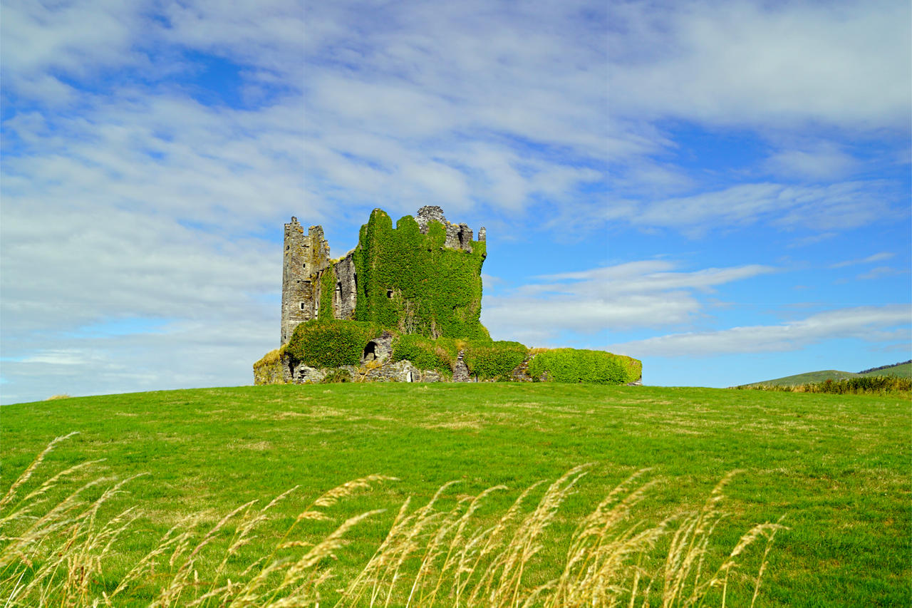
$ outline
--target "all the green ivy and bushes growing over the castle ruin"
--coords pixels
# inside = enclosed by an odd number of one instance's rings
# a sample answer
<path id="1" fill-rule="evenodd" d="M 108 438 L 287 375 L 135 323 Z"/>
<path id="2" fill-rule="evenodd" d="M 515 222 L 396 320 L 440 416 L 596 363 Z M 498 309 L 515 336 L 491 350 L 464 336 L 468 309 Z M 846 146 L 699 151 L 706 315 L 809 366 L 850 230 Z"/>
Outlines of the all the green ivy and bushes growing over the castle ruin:
<path id="1" fill-rule="evenodd" d="M 330 266 L 320 278 L 318 320 L 302 323 L 288 342 L 293 362 L 311 367 L 358 365 L 364 346 L 391 330 L 393 361 L 409 360 L 422 370 L 452 373 L 458 351 L 481 380 L 509 379 L 527 357 L 519 342 L 492 341 L 481 323 L 484 242 L 472 252 L 444 247 L 446 228 L 430 222 L 420 232 L 411 215 L 393 228 L 375 209 L 361 226 L 352 258 L 358 273 L 354 321 L 333 319 L 337 277 Z M 401 335 L 399 335 L 401 334 Z M 555 349 L 529 362 L 534 380 L 622 384 L 639 379 L 642 363 L 605 351 Z"/>

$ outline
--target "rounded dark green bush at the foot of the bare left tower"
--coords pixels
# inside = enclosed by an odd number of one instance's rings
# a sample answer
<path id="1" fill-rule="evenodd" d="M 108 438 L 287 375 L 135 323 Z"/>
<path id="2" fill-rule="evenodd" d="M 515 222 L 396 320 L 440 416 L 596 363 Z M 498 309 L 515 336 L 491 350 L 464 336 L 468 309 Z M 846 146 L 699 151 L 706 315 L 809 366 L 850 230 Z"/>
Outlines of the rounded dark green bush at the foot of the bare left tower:
<path id="1" fill-rule="evenodd" d="M 295 328 L 285 351 L 292 361 L 309 367 L 358 365 L 364 347 L 383 333 L 376 323 L 349 320 L 309 320 Z"/>

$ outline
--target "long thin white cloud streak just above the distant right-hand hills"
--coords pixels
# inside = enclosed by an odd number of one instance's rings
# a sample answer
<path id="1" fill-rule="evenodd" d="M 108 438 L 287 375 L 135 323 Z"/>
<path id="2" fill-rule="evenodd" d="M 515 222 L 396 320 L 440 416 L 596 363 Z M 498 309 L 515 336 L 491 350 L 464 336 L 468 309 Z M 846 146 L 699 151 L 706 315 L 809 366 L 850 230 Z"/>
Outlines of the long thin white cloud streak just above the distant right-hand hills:
<path id="1" fill-rule="evenodd" d="M 828 340 L 908 341 L 912 309 L 907 304 L 821 312 L 780 325 L 677 333 L 612 344 L 609 351 L 632 357 L 711 357 L 741 352 L 796 351 Z"/>

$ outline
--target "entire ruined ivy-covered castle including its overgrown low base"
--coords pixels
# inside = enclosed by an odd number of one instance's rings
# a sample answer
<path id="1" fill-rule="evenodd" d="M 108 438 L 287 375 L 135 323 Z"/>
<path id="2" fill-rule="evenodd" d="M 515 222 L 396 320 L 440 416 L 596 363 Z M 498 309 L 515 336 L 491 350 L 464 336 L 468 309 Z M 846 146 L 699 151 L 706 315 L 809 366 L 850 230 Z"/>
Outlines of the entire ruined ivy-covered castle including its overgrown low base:
<path id="1" fill-rule="evenodd" d="M 485 230 L 474 240 L 437 206 L 393 228 L 375 209 L 358 246 L 329 258 L 320 226 L 285 225 L 280 348 L 254 383 L 636 383 L 642 365 L 606 351 L 492 341 L 480 319 Z"/>

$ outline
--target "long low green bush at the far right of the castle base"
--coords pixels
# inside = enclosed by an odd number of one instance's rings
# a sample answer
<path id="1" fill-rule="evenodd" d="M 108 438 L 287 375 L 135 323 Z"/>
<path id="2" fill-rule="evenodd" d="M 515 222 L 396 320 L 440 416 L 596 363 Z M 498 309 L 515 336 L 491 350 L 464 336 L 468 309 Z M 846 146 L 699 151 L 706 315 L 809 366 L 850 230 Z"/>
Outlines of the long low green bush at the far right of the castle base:
<path id="1" fill-rule="evenodd" d="M 642 363 L 606 351 L 554 349 L 535 355 L 528 372 L 536 381 L 626 384 L 639 379 Z"/>

